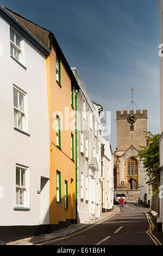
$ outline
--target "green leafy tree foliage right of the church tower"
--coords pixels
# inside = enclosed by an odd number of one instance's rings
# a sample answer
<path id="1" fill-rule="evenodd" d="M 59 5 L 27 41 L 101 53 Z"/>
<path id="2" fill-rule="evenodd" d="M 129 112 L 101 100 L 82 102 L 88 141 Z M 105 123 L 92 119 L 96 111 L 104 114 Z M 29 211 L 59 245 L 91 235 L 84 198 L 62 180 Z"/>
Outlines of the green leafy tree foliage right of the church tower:
<path id="1" fill-rule="evenodd" d="M 160 186 L 160 168 L 159 168 L 159 133 L 153 135 L 149 131 L 145 131 L 147 138 L 147 147 L 139 146 L 139 154 L 137 157 L 143 162 L 146 169 L 146 174 L 149 179 L 154 178 L 149 182 L 152 185 L 153 195 L 159 194 Z"/>

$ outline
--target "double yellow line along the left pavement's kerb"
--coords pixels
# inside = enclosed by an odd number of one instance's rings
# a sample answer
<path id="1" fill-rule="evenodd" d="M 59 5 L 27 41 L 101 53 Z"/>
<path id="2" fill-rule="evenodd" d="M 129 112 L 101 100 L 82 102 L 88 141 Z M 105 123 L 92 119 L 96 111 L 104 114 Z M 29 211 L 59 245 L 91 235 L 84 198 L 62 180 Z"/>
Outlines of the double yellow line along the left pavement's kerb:
<path id="1" fill-rule="evenodd" d="M 119 211 L 118 211 L 118 212 L 119 212 Z M 68 235 L 68 236 L 64 236 L 64 237 L 60 237 L 60 238 L 53 239 L 53 240 L 49 240 L 49 241 L 46 241 L 46 242 L 37 243 L 37 244 L 35 244 L 35 245 L 45 245 L 46 243 L 56 242 L 56 241 L 59 241 L 59 240 L 67 239 L 67 238 L 70 238 L 70 237 L 72 237 L 72 236 L 81 234 L 81 233 L 85 232 L 86 230 L 89 230 L 89 229 L 95 227 L 96 225 L 98 225 L 98 224 L 100 224 L 100 223 L 102 223 L 102 222 L 104 222 L 104 221 L 107 221 L 109 218 L 114 217 L 118 212 L 115 212 L 115 214 L 113 214 L 113 215 L 111 215 L 111 216 L 109 216 L 109 217 L 104 218 L 102 221 L 99 221 L 99 222 L 97 222 L 96 224 L 93 224 L 93 225 L 91 225 L 90 227 L 85 228 L 85 229 L 83 229 L 83 230 L 81 230 L 81 231 L 78 231 L 78 232 L 76 232 L 76 233 L 74 233 L 74 234 L 71 234 L 71 235 Z"/>

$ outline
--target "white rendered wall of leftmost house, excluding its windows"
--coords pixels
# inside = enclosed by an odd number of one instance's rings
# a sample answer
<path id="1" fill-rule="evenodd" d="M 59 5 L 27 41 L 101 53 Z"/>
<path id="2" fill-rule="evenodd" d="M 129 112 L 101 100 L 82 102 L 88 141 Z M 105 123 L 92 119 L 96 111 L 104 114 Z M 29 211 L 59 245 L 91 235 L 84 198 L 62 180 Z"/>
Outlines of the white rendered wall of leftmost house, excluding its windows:
<path id="1" fill-rule="evenodd" d="M 49 223 L 49 182 L 40 209 L 41 175 L 49 178 L 49 125 L 46 83 L 46 59 L 29 41 L 24 39 L 24 65 L 10 57 L 10 26 L 0 16 L 0 162 L 3 198 L 0 199 L 0 225 L 38 225 Z M 27 93 L 28 133 L 14 130 L 13 84 Z M 14 210 L 16 163 L 29 167 L 27 189 L 30 211 Z M 45 198 L 45 196 L 44 196 Z M 41 204 L 42 205 L 42 204 Z M 44 215 L 41 216 L 40 211 Z M 45 221 L 44 221 L 45 220 Z"/>

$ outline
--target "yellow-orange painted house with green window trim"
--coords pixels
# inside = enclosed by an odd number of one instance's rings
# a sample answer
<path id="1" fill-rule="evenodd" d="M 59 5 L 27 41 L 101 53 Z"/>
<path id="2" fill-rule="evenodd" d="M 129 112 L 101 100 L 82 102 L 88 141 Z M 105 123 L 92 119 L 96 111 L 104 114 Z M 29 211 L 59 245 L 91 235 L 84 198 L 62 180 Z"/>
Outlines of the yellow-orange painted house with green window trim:
<path id="1" fill-rule="evenodd" d="M 60 49 L 50 36 L 52 53 L 47 63 L 51 174 L 49 222 L 59 224 L 76 220 L 76 112 L 77 84 L 65 68 Z M 58 46 L 58 45 L 57 45 Z M 62 59 L 63 58 L 63 59 Z M 71 127 L 72 126 L 72 127 Z"/>

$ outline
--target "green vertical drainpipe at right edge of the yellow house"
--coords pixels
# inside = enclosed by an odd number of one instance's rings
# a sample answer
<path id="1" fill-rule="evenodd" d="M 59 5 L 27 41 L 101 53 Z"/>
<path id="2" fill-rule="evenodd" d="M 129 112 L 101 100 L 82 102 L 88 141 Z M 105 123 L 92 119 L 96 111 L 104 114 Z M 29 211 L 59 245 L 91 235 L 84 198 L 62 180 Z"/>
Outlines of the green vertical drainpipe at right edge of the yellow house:
<path id="1" fill-rule="evenodd" d="M 76 223 L 78 223 L 78 132 L 77 132 L 77 95 L 79 93 L 76 93 L 75 99 L 76 99 Z"/>

